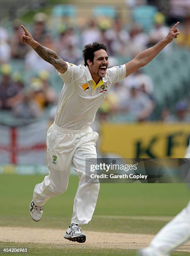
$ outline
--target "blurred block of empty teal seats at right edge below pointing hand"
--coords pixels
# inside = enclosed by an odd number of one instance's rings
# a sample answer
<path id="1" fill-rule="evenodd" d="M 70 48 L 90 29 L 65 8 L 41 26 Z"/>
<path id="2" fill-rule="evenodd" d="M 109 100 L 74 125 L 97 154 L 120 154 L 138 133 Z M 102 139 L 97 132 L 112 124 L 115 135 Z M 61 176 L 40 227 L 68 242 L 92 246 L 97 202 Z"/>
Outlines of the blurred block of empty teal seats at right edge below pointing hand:
<path id="1" fill-rule="evenodd" d="M 184 64 L 185 63 L 185 64 Z M 160 53 L 143 71 L 153 79 L 158 106 L 173 106 L 186 95 L 189 86 L 190 52 L 174 46 L 174 54 Z"/>

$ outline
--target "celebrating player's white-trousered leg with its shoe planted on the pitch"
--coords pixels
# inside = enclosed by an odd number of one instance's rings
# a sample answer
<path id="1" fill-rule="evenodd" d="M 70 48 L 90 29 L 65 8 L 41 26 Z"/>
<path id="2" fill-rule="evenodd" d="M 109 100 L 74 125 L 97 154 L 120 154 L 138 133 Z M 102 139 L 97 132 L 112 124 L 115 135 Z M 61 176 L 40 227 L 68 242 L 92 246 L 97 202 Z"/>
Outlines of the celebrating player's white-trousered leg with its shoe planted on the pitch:
<path id="1" fill-rule="evenodd" d="M 84 243 L 86 240 L 80 225 L 87 224 L 91 220 L 100 188 L 99 183 L 86 183 L 85 180 L 85 159 L 97 158 L 96 140 L 97 134 L 93 131 L 90 131 L 87 136 L 81 138 L 80 145 L 77 147 L 72 159 L 74 170 L 77 172 L 80 181 L 75 195 L 71 225 L 67 229 L 64 238 L 79 243 Z"/>

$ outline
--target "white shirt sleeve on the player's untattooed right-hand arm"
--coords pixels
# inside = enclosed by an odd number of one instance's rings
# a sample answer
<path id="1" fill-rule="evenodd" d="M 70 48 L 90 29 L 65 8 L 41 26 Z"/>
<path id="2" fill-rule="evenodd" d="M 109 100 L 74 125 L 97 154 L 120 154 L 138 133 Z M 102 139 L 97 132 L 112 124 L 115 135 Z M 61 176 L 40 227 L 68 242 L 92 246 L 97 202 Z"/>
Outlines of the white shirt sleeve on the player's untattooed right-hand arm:
<path id="1" fill-rule="evenodd" d="M 108 79 L 110 80 L 111 86 L 116 84 L 120 80 L 125 79 L 125 76 L 126 76 L 125 64 L 107 69 L 107 75 L 108 75 Z"/>

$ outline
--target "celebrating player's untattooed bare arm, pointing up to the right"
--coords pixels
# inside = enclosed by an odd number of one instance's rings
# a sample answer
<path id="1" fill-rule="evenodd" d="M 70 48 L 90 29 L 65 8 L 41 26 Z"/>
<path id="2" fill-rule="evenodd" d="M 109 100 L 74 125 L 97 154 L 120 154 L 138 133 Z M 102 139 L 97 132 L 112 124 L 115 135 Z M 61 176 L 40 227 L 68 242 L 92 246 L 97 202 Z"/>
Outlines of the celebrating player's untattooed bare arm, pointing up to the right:
<path id="1" fill-rule="evenodd" d="M 138 54 L 135 59 L 129 61 L 125 64 L 126 67 L 126 77 L 133 72 L 137 71 L 140 67 L 144 67 L 147 65 L 151 60 L 155 58 L 159 54 L 160 51 L 162 51 L 165 46 L 167 46 L 169 43 L 173 41 L 174 38 L 177 38 L 177 36 L 180 34 L 180 31 L 178 30 L 177 26 L 179 25 L 179 22 L 177 22 L 169 31 L 168 35 L 165 39 L 160 41 L 155 46 L 142 51 L 140 54 Z"/>

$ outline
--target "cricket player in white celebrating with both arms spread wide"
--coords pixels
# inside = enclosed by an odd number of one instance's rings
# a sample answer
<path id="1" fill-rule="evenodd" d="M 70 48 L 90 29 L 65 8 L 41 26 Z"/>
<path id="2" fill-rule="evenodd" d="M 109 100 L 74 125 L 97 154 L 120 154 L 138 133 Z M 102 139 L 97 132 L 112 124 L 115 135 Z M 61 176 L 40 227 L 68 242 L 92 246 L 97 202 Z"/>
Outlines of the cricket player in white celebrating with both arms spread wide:
<path id="1" fill-rule="evenodd" d="M 107 48 L 104 44 L 87 44 L 83 50 L 84 65 L 76 66 L 62 60 L 54 51 L 35 41 L 22 25 L 20 40 L 30 45 L 39 56 L 52 64 L 64 85 L 57 106 L 54 123 L 47 131 L 47 159 L 49 175 L 36 184 L 30 203 L 33 220 L 42 218 L 43 205 L 47 200 L 67 189 L 70 167 L 80 179 L 74 199 L 73 214 L 64 238 L 84 243 L 86 236 L 80 225 L 87 224 L 93 215 L 99 183 L 85 183 L 85 159 L 97 158 L 95 142 L 98 133 L 90 124 L 112 85 L 125 79 L 140 67 L 147 65 L 176 38 L 179 22 L 168 35 L 155 46 L 147 49 L 133 60 L 118 67 L 108 68 Z M 66 206 L 65 206 L 66 207 Z"/>

